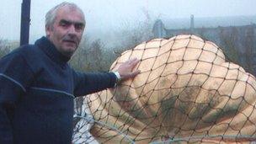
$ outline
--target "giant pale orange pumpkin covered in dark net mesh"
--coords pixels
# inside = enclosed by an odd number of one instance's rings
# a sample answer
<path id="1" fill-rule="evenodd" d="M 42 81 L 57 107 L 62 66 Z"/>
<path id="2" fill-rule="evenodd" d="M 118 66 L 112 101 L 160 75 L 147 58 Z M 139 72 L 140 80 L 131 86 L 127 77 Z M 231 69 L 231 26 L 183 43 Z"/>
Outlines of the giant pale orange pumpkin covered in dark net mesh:
<path id="1" fill-rule="evenodd" d="M 74 143 L 256 141 L 256 81 L 195 35 L 154 39 L 110 67 L 141 61 L 134 79 L 80 98 Z"/>

